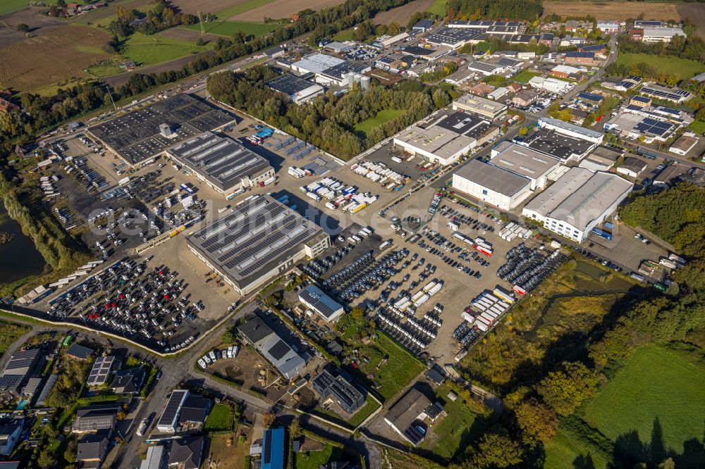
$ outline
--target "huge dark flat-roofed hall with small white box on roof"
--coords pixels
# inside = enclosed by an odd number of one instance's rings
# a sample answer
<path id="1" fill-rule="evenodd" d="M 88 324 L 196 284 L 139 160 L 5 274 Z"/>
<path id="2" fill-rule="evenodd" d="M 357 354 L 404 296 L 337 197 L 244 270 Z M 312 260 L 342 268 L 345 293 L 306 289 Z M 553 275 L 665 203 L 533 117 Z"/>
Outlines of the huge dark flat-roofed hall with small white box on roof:
<path id="1" fill-rule="evenodd" d="M 125 163 L 134 166 L 149 161 L 178 142 L 234 122 L 232 115 L 190 94 L 175 94 L 94 125 L 87 132 Z"/>

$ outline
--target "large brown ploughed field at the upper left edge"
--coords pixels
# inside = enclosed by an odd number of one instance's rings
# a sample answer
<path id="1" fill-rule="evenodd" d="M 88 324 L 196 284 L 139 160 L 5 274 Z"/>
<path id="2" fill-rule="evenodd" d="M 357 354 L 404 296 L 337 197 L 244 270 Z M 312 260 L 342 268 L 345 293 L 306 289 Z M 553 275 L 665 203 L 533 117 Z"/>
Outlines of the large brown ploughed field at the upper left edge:
<path id="1" fill-rule="evenodd" d="M 108 57 L 101 46 L 110 36 L 78 25 L 65 25 L 2 49 L 0 87 L 19 92 L 87 77 L 84 68 Z"/>

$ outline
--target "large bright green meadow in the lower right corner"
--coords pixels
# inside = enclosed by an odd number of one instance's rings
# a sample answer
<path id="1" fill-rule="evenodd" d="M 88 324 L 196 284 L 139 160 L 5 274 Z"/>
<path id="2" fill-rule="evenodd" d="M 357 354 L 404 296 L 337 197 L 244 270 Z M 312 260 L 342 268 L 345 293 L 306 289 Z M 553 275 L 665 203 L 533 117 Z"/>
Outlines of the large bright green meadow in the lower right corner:
<path id="1" fill-rule="evenodd" d="M 687 439 L 702 438 L 705 420 L 705 366 L 689 358 L 656 346 L 640 347 L 584 406 L 584 420 L 613 441 L 637 431 L 642 442 L 649 442 L 658 418 L 666 448 L 680 454 Z"/>

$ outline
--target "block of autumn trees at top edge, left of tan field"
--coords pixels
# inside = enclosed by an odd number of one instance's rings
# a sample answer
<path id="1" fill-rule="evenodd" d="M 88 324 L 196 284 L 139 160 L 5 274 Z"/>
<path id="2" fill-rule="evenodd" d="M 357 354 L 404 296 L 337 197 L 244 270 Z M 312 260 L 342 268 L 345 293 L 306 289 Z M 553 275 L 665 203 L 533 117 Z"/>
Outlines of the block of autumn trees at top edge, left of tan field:
<path id="1" fill-rule="evenodd" d="M 462 20 L 534 21 L 544 13 L 542 0 L 448 0 L 448 16 Z"/>

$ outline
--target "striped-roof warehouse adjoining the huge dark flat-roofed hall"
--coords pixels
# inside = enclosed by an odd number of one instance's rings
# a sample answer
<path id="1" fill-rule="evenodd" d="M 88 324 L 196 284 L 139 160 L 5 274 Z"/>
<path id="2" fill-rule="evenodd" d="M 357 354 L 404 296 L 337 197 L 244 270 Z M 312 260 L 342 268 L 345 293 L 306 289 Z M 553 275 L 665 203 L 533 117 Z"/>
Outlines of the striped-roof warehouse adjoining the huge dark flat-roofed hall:
<path id="1" fill-rule="evenodd" d="M 274 177 L 269 161 L 232 139 L 205 132 L 166 150 L 166 155 L 214 191 L 228 196 Z"/>

